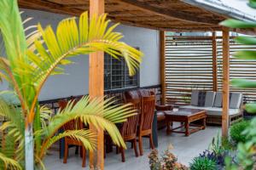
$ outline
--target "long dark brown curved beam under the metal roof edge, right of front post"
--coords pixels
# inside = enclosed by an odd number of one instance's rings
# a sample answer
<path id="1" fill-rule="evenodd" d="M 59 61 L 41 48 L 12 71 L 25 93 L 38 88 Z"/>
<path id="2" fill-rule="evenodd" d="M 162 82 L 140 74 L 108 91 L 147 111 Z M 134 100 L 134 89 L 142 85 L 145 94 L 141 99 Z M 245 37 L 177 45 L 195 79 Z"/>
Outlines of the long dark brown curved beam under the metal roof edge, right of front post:
<path id="1" fill-rule="evenodd" d="M 140 10 L 150 13 L 164 16 L 169 19 L 177 19 L 184 20 L 187 22 L 196 22 L 196 23 L 204 23 L 210 25 L 218 25 L 219 20 L 215 20 L 213 17 L 200 18 L 196 15 L 191 16 L 191 14 L 184 13 L 182 11 L 174 10 L 172 8 L 155 8 L 151 5 L 148 5 L 147 2 L 141 2 L 137 0 L 119 0 L 120 2 L 126 3 L 127 5 L 131 5 L 139 8 Z"/>

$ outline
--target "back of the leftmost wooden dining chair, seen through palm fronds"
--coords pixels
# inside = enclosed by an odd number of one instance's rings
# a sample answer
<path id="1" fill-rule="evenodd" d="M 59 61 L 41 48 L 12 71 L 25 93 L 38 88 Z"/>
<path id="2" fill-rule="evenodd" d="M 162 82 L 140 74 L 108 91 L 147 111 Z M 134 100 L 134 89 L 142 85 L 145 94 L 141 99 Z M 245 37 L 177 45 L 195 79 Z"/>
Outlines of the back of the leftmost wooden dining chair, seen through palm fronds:
<path id="1" fill-rule="evenodd" d="M 61 110 L 63 110 L 67 106 L 67 103 L 68 103 L 67 100 L 60 100 L 58 102 L 59 108 Z M 76 103 L 77 103 L 77 101 L 74 100 L 73 105 L 75 105 Z M 81 122 L 80 120 L 72 120 L 63 125 L 64 131 L 82 129 L 83 127 L 84 127 L 83 122 Z"/>

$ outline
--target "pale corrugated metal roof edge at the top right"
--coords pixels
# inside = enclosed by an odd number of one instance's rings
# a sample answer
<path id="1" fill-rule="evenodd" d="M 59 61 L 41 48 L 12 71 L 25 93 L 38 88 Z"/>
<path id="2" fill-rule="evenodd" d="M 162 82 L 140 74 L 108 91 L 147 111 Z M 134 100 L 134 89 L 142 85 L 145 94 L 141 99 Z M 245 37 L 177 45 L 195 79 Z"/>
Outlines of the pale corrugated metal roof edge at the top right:
<path id="1" fill-rule="evenodd" d="M 189 3 L 197 7 L 205 8 L 214 13 L 223 14 L 229 18 L 233 18 L 237 20 L 256 21 L 256 16 L 241 12 L 241 10 L 232 8 L 227 4 L 222 3 L 221 1 L 216 1 L 216 0 L 182 0 L 182 1 L 184 3 Z"/>

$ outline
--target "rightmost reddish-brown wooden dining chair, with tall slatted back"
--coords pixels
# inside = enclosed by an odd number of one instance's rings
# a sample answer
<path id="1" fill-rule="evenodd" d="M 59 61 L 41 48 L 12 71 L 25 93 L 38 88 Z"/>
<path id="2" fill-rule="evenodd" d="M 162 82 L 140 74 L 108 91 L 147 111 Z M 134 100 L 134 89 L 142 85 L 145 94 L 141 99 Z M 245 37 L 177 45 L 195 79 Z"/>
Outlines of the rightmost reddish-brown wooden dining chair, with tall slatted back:
<path id="1" fill-rule="evenodd" d="M 140 155 L 143 156 L 143 137 L 149 137 L 150 148 L 154 150 L 152 125 L 154 119 L 154 104 L 155 97 L 150 95 L 142 98 L 142 113 L 140 115 L 139 130 L 138 130 L 138 142 Z"/>

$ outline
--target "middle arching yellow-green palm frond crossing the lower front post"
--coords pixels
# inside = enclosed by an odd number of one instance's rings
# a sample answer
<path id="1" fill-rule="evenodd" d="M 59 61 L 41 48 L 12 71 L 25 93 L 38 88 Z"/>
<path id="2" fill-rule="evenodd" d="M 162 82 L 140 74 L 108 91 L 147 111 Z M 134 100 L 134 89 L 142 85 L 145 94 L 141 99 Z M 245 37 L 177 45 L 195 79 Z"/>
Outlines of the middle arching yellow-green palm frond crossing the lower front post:
<path id="1" fill-rule="evenodd" d="M 80 118 L 86 125 L 92 124 L 96 128 L 106 130 L 114 144 L 125 147 L 119 129 L 114 123 L 125 122 L 127 117 L 134 115 L 134 111 L 131 111 L 130 105 L 110 106 L 113 102 L 115 101 L 112 99 L 89 99 L 88 96 L 80 99 L 75 105 L 69 102 L 65 109 L 53 116 L 48 127 L 43 129 L 43 133 L 49 138 L 65 123 Z"/>

